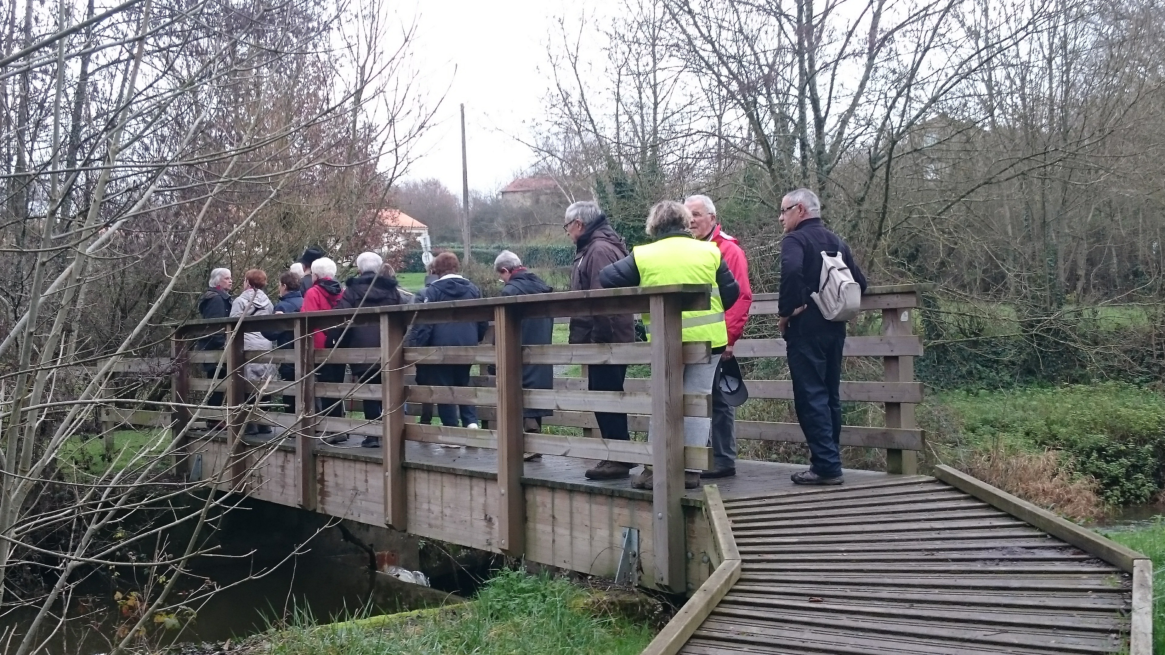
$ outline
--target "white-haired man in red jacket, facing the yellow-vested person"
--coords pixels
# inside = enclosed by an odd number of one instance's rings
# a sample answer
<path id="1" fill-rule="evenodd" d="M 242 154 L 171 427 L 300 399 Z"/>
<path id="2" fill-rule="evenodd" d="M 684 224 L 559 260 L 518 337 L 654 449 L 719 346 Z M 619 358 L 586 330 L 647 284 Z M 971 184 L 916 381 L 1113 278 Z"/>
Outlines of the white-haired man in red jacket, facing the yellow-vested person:
<path id="1" fill-rule="evenodd" d="M 728 346 L 720 360 L 732 359 L 736 339 L 744 333 L 744 322 L 748 321 L 748 308 L 753 304 L 753 287 L 748 283 L 748 260 L 735 237 L 726 234 L 720 228 L 716 218 L 716 206 L 707 196 L 689 196 L 684 200 L 687 211 L 692 212 L 692 235 L 697 239 L 712 241 L 720 247 L 720 259 L 728 266 L 733 277 L 740 286 L 740 297 L 725 311 L 728 324 Z M 727 478 L 736 474 L 736 408 L 725 401 L 720 385 L 712 385 L 712 465 L 711 471 L 700 474 L 701 478 Z"/>

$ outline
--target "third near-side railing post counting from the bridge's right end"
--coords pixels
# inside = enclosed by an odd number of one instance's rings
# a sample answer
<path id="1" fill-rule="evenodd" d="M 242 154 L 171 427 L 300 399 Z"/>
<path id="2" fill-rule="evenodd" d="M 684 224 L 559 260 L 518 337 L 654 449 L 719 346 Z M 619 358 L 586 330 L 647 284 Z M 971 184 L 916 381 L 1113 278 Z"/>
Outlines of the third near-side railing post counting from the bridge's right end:
<path id="1" fill-rule="evenodd" d="M 408 529 L 404 479 L 405 315 L 380 315 L 381 465 L 384 469 L 384 523 Z"/>

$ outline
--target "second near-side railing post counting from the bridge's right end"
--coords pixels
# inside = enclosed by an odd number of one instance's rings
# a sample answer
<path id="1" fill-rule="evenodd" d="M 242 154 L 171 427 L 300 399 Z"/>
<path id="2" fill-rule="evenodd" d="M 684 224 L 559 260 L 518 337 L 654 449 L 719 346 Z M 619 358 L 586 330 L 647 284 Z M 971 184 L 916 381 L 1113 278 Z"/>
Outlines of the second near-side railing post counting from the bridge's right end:
<path id="1" fill-rule="evenodd" d="M 522 492 L 522 310 L 494 309 L 494 353 L 497 365 L 499 538 L 511 557 L 525 552 L 525 498 Z"/>

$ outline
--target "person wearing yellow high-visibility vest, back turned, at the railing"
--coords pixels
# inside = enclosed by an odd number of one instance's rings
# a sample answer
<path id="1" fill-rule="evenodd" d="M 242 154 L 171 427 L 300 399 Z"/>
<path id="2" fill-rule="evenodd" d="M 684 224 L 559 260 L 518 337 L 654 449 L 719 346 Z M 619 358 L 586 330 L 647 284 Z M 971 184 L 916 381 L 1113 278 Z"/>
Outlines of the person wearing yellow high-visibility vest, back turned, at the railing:
<path id="1" fill-rule="evenodd" d="M 599 274 L 605 288 L 610 287 L 657 287 L 661 284 L 711 284 L 712 300 L 708 309 L 685 311 L 682 316 L 685 341 L 709 341 L 712 359 L 708 364 L 684 365 L 684 393 L 711 394 L 715 380 L 720 354 L 728 345 L 728 328 L 725 309 L 730 308 L 740 296 L 740 286 L 720 256 L 715 244 L 692 238 L 692 212 L 684 205 L 663 200 L 651 207 L 648 214 L 647 233 L 651 244 L 636 246 L 631 254 L 607 266 Z M 651 339 L 651 318 L 643 315 L 643 326 Z M 712 420 L 708 417 L 684 417 L 684 444 L 707 446 Z M 651 436 L 648 435 L 648 439 Z M 696 488 L 700 483 L 698 471 L 684 473 L 684 486 Z M 645 466 L 631 485 L 636 488 L 651 487 L 651 469 Z"/>

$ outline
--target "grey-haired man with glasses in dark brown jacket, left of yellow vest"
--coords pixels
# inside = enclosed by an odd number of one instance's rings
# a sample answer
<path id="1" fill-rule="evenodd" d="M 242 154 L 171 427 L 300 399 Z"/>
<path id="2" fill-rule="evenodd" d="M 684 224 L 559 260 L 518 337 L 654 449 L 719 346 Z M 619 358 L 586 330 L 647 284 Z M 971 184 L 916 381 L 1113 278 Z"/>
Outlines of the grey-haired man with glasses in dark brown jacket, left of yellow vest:
<path id="1" fill-rule="evenodd" d="M 571 290 L 601 289 L 599 272 L 628 255 L 627 244 L 615 233 L 596 203 L 581 200 L 566 207 L 563 230 L 574 241 L 574 266 L 571 269 Z M 635 340 L 635 318 L 630 314 L 615 316 L 571 317 L 572 344 L 621 344 Z M 587 387 L 592 392 L 621 392 L 627 378 L 627 365 L 605 364 L 587 367 Z M 626 414 L 595 411 L 599 431 L 605 439 L 629 441 Z M 634 464 L 600 462 L 587 469 L 592 480 L 627 478 Z"/>

